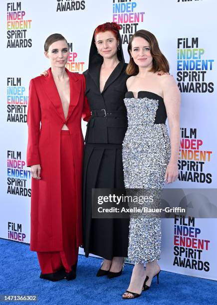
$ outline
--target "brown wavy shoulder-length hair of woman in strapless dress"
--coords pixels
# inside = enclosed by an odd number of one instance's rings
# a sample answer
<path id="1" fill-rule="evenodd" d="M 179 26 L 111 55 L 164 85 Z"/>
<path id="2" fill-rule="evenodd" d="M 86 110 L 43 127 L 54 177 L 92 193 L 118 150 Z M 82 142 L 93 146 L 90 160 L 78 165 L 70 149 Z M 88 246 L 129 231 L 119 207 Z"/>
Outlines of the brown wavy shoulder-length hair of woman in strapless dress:
<path id="1" fill-rule="evenodd" d="M 130 51 L 132 51 L 132 42 L 135 37 L 144 38 L 145 40 L 148 41 L 148 43 L 150 45 L 150 52 L 153 57 L 153 62 L 152 62 L 153 65 L 152 65 L 151 70 L 149 70 L 149 71 L 154 72 L 154 73 L 158 72 L 158 71 L 163 71 L 165 73 L 169 72 L 170 67 L 169 67 L 168 60 L 164 56 L 164 54 L 162 54 L 155 35 L 146 30 L 138 30 L 130 38 L 130 42 L 129 42 L 128 48 L 127 48 L 128 53 L 130 55 L 130 62 L 126 69 L 127 75 L 132 76 L 132 75 L 137 75 L 139 73 L 139 67 L 137 66 L 137 64 L 135 64 L 135 62 L 130 54 Z"/>

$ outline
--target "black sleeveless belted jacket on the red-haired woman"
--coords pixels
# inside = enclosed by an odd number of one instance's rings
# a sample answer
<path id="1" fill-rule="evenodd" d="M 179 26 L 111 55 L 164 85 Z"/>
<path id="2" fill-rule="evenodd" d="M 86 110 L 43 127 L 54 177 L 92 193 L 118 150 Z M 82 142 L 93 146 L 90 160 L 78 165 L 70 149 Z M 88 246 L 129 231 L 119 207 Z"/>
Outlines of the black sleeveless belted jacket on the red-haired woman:
<path id="1" fill-rule="evenodd" d="M 125 70 L 127 64 L 120 61 L 105 83 L 100 93 L 99 75 L 102 62 L 84 72 L 86 78 L 86 97 L 91 111 L 122 111 L 121 117 L 94 117 L 87 124 L 86 143 L 122 144 L 127 130 L 127 111 L 124 104 L 129 77 Z"/>

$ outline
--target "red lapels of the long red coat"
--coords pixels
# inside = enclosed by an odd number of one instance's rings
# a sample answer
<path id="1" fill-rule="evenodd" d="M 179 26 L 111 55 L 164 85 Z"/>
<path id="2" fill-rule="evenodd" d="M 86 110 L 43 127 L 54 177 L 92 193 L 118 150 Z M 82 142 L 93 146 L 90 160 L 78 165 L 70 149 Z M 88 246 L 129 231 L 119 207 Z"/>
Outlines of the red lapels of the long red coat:
<path id="1" fill-rule="evenodd" d="M 48 76 L 45 76 L 45 77 L 42 76 L 42 78 L 41 78 L 42 87 L 43 87 L 48 99 L 54 106 L 58 116 L 62 119 L 63 122 L 65 122 L 70 118 L 74 108 L 76 107 L 76 105 L 79 101 L 81 82 L 76 76 L 74 76 L 73 73 L 69 72 L 66 69 L 66 72 L 69 76 L 70 102 L 69 102 L 69 108 L 68 108 L 68 115 L 67 115 L 67 118 L 65 119 L 63 108 L 62 108 L 62 102 L 61 102 L 58 90 L 56 88 L 56 84 L 53 79 L 51 68 L 49 68 L 47 70 L 47 72 L 48 72 Z"/>

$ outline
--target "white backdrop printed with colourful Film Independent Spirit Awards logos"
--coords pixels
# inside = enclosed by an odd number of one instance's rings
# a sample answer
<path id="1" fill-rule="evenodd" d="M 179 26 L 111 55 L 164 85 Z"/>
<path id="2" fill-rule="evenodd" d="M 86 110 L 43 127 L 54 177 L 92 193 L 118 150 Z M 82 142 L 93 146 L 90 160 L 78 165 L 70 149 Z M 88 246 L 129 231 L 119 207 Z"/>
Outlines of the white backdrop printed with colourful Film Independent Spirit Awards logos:
<path id="1" fill-rule="evenodd" d="M 29 243 L 28 84 L 49 67 L 43 44 L 51 33 L 66 37 L 67 68 L 82 73 L 98 24 L 121 24 L 126 62 L 131 35 L 153 32 L 182 93 L 180 175 L 171 187 L 217 188 L 216 10 L 215 0 L 0 1 L 1 238 Z M 163 270 L 217 280 L 216 219 L 163 219 L 162 230 Z"/>

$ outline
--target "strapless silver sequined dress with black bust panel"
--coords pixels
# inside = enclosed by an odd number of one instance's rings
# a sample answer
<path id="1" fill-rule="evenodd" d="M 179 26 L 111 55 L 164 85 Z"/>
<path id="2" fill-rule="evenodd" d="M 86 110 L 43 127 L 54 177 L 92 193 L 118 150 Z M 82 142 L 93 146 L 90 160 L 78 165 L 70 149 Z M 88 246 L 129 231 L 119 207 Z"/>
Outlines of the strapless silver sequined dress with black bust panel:
<path id="1" fill-rule="evenodd" d="M 122 152 L 125 188 L 162 189 L 171 151 L 163 98 L 148 91 L 140 91 L 134 98 L 132 92 L 127 92 L 124 102 L 128 116 Z M 131 217 L 129 261 L 159 260 L 160 247 L 160 218 Z"/>

